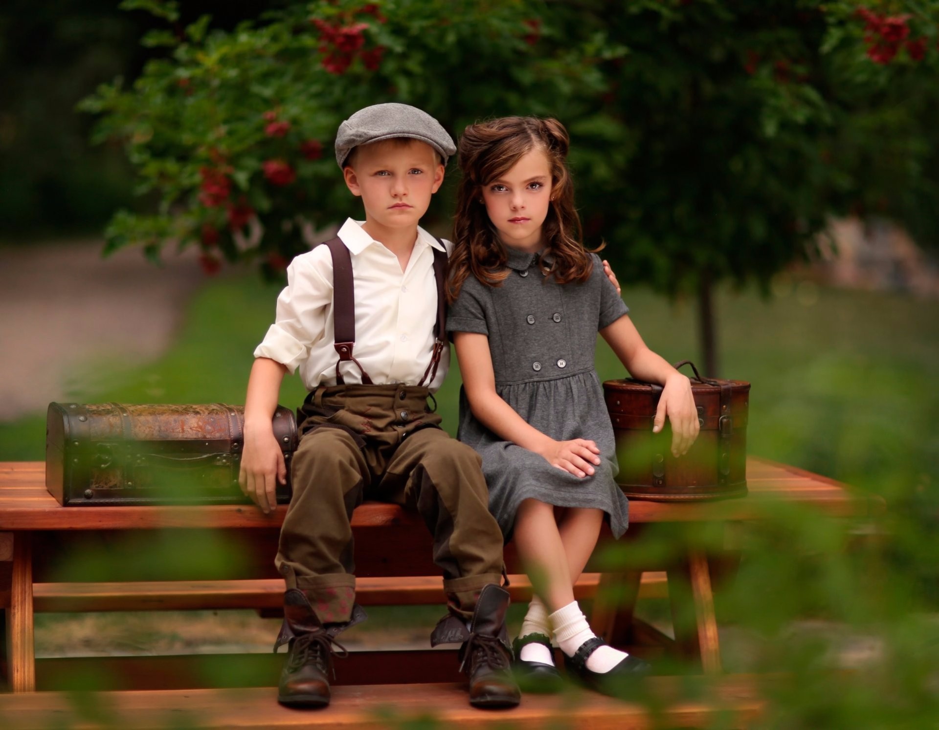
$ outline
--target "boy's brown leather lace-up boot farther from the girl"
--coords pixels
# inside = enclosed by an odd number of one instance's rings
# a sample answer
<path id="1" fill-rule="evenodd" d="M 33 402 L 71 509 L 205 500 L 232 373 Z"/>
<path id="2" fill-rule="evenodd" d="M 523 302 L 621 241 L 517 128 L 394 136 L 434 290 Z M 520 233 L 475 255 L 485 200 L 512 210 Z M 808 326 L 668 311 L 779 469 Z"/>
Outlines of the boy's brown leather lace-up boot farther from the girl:
<path id="1" fill-rule="evenodd" d="M 353 618 L 344 624 L 320 623 L 313 606 L 303 591 L 290 588 L 284 594 L 284 625 L 278 647 L 289 643 L 287 659 L 277 687 L 277 701 L 290 707 L 326 707 L 330 704 L 330 678 L 335 678 L 332 667 L 335 656 L 346 657 L 346 647 L 335 640 L 336 634 L 364 618 L 357 604 Z"/>

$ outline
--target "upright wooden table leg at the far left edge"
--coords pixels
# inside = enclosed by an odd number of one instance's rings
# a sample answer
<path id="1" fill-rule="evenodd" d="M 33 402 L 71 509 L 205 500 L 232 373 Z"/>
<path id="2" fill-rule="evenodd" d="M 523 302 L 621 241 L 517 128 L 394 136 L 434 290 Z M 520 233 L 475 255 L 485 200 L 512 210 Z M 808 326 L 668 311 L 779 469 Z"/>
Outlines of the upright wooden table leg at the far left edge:
<path id="1" fill-rule="evenodd" d="M 31 535 L 13 533 L 13 570 L 7 609 L 7 661 L 13 692 L 36 689 L 33 653 L 33 563 Z"/>

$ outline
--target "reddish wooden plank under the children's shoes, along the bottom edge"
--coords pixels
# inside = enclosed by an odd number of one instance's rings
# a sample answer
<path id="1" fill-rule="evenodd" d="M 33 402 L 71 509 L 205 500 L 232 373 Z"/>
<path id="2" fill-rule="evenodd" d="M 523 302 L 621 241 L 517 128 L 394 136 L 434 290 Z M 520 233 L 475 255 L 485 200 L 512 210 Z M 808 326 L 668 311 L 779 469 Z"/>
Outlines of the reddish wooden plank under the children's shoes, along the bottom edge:
<path id="1" fill-rule="evenodd" d="M 81 696 L 66 692 L 0 696 L 0 715 L 19 730 L 68 724 L 76 729 L 109 727 L 149 730 L 164 727 L 331 727 L 387 728 L 435 718 L 441 727 L 539 729 L 562 721 L 586 730 L 648 730 L 650 727 L 750 726 L 766 710 L 752 677 L 726 677 L 704 696 L 685 699 L 675 677 L 649 677 L 642 691 L 648 707 L 595 692 L 526 695 L 519 707 L 480 710 L 469 707 L 460 684 L 371 685 L 337 687 L 330 707 L 300 711 L 281 707 L 276 690 L 182 690 L 102 692 Z M 84 711 L 82 711 L 84 709 Z M 97 711 L 96 711 L 97 710 Z"/>

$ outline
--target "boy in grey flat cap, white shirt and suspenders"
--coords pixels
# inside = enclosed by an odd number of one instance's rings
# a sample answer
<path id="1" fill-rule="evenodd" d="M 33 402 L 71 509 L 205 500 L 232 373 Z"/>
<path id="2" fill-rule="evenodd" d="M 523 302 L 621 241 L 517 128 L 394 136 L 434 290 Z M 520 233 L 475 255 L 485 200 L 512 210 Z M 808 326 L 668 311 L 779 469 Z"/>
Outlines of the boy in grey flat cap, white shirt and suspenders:
<path id="1" fill-rule="evenodd" d="M 469 702 L 513 707 L 499 586 L 502 538 L 479 458 L 439 429 L 427 396 L 446 374 L 443 244 L 418 227 L 443 182 L 453 140 L 406 104 L 377 104 L 340 126 L 336 160 L 365 221 L 296 257 L 277 321 L 254 351 L 239 482 L 265 512 L 286 467 L 271 428 L 286 372 L 310 390 L 300 409 L 293 495 L 276 558 L 289 642 L 284 705 L 330 702 L 331 646 L 365 617 L 355 603 L 352 510 L 365 498 L 416 508 L 434 534 L 450 614 L 433 645 L 462 642 Z M 339 646 L 341 649 L 341 646 Z"/>

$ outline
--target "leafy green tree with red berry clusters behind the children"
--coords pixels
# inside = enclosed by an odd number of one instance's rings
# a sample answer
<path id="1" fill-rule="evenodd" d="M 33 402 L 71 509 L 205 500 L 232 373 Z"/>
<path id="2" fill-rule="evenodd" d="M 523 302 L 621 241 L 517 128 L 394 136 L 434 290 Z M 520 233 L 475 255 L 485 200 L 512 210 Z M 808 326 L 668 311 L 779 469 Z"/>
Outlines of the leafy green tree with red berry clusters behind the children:
<path id="1" fill-rule="evenodd" d="M 177 20 L 165 0 L 123 7 Z M 203 18 L 151 33 L 165 57 L 85 100 L 160 200 L 115 214 L 107 245 L 195 245 L 207 270 L 282 275 L 356 212 L 331 155 L 349 114 L 403 101 L 454 134 L 552 115 L 572 135 L 588 244 L 608 241 L 623 281 L 698 298 L 716 374 L 717 283 L 767 286 L 852 210 L 939 238 L 937 30 L 939 0 L 331 0 L 232 33 Z M 443 225 L 446 190 L 429 213 Z"/>

